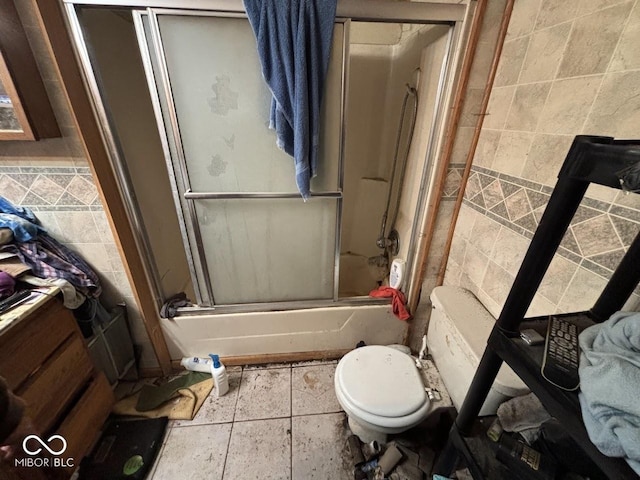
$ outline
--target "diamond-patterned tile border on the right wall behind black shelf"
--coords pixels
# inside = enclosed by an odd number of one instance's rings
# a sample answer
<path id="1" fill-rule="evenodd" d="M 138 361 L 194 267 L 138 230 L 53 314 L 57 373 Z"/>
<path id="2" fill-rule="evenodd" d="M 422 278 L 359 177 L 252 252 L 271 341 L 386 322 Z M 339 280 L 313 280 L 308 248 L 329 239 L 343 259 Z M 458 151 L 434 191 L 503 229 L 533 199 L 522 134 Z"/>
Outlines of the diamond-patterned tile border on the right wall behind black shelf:
<path id="1" fill-rule="evenodd" d="M 447 179 L 462 178 L 464 165 L 452 164 Z M 458 189 L 445 188 L 451 200 Z M 473 166 L 464 204 L 514 232 L 531 239 L 553 188 L 488 168 Z M 640 211 L 585 197 L 558 253 L 608 278 L 640 231 Z"/>

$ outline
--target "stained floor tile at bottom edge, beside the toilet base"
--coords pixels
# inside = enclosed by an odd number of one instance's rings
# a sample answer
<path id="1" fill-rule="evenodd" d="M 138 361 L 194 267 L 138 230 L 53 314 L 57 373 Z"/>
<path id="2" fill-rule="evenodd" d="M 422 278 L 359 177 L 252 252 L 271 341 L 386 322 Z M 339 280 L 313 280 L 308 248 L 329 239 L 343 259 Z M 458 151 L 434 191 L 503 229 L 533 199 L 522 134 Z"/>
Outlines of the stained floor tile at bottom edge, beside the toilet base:
<path id="1" fill-rule="evenodd" d="M 291 469 L 294 480 L 351 480 L 343 413 L 291 419 Z"/>

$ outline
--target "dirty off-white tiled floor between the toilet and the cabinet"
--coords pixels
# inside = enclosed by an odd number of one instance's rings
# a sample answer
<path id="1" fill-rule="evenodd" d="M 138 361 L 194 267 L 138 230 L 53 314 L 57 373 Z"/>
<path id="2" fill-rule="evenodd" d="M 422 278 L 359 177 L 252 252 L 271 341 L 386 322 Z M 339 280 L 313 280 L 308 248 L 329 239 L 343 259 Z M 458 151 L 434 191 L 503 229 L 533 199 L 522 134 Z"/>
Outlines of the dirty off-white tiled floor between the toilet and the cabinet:
<path id="1" fill-rule="evenodd" d="M 337 362 L 230 367 L 229 393 L 169 425 L 149 479 L 353 478 L 335 397 Z"/>

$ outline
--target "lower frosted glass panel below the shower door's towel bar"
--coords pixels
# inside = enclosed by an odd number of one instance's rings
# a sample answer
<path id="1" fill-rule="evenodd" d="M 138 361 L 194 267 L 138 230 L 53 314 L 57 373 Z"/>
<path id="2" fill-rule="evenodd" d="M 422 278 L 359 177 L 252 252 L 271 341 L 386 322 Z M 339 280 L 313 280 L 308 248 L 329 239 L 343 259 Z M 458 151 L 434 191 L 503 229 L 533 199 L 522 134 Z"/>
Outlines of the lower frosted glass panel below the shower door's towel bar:
<path id="1" fill-rule="evenodd" d="M 335 199 L 202 200 L 216 304 L 333 298 Z"/>

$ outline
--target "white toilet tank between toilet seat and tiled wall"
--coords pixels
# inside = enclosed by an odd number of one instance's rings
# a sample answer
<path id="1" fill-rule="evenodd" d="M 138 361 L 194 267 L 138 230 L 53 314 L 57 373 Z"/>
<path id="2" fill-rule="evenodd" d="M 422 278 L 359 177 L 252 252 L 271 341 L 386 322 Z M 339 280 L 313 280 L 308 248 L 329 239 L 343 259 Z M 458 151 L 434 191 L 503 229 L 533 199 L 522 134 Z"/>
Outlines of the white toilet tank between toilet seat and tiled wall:
<path id="1" fill-rule="evenodd" d="M 434 288 L 431 304 L 427 346 L 454 406 L 460 410 L 495 319 L 471 292 L 460 287 Z M 524 382 L 503 364 L 480 415 L 495 415 L 502 402 L 528 392 Z"/>

